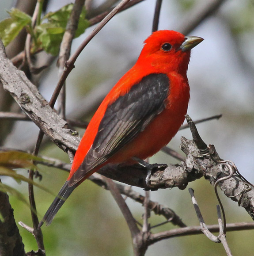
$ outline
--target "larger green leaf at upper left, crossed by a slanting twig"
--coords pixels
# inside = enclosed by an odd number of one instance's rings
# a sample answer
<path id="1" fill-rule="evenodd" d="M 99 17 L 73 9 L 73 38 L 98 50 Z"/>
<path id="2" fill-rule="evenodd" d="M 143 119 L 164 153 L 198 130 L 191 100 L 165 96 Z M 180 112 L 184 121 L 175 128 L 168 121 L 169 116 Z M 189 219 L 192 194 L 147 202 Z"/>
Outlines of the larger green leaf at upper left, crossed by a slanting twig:
<path id="1" fill-rule="evenodd" d="M 35 27 L 36 34 L 38 34 L 38 41 L 46 52 L 51 53 L 52 55 L 57 55 L 59 53 L 60 44 L 72 8 L 73 4 L 68 4 L 58 11 L 49 12 L 43 18 L 43 20 L 47 20 L 48 22 Z M 85 29 L 89 27 L 89 22 L 85 19 L 85 14 L 86 11 L 83 7 L 75 37 L 83 34 Z"/>

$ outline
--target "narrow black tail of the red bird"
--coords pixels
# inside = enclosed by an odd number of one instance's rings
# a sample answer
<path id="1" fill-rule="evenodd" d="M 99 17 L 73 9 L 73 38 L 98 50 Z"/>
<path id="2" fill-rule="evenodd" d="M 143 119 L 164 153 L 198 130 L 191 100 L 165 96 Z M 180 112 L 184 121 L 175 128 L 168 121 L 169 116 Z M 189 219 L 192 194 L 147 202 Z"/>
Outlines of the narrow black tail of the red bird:
<path id="1" fill-rule="evenodd" d="M 64 183 L 64 186 L 61 188 L 59 191 L 57 197 L 54 199 L 53 203 L 51 206 L 49 206 L 49 209 L 45 213 L 42 221 L 38 225 L 38 229 L 42 226 L 42 224 L 45 222 L 46 225 L 49 225 L 55 215 L 57 214 L 58 210 L 61 208 L 61 206 L 64 204 L 66 199 L 69 197 L 69 195 L 72 194 L 72 191 L 77 187 L 78 185 L 75 184 L 71 187 L 69 187 L 69 181 L 67 180 Z"/>

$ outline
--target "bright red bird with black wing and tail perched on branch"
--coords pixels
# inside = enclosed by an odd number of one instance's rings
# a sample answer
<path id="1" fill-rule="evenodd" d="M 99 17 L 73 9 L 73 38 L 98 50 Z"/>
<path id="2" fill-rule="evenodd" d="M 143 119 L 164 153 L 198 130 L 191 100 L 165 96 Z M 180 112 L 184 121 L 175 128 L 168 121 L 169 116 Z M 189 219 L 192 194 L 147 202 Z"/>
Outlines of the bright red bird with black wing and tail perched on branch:
<path id="1" fill-rule="evenodd" d="M 39 224 L 49 225 L 72 191 L 108 163 L 144 160 L 182 125 L 190 99 L 190 50 L 203 38 L 156 31 L 136 64 L 102 101 L 76 151 L 70 175 Z"/>

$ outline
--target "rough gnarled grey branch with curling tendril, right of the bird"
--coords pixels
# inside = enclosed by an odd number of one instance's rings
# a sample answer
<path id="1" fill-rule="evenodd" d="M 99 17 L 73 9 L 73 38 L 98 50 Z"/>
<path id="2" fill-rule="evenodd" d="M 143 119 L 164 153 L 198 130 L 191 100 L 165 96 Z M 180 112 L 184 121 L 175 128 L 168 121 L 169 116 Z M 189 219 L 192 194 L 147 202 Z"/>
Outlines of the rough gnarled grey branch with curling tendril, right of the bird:
<path id="1" fill-rule="evenodd" d="M 209 180 L 212 185 L 216 180 L 229 176 L 229 170 L 225 168 L 225 162 L 218 156 L 213 145 L 209 145 L 205 156 L 201 156 L 197 145 L 193 141 L 182 138 L 181 148 L 187 157 L 184 161 L 186 171 L 198 170 Z M 243 180 L 239 173 L 234 173 L 228 179 L 219 182 L 218 186 L 231 200 L 238 202 L 254 219 L 254 187 Z"/>

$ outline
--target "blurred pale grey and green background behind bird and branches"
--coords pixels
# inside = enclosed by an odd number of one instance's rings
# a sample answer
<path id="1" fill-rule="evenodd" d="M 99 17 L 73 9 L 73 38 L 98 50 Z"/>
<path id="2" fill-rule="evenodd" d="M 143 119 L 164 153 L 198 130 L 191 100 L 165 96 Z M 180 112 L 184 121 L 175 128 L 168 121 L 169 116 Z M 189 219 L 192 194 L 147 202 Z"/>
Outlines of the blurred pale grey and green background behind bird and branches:
<path id="1" fill-rule="evenodd" d="M 21 1 L 22 2 L 22 1 Z M 48 11 L 56 11 L 70 1 L 49 0 Z M 99 6 L 103 1 L 95 1 Z M 193 12 L 212 1 L 164 0 L 159 20 L 159 30 L 182 32 L 189 24 Z M 193 120 L 222 114 L 220 120 L 204 122 L 197 126 L 201 138 L 216 147 L 220 157 L 235 162 L 241 174 L 254 183 L 254 2 L 253 0 L 225 0 L 220 7 L 199 24 L 190 35 L 205 38 L 192 50 L 188 78 L 191 89 L 188 114 Z M 6 10 L 15 1 L 0 1 L 0 20 L 8 17 Z M 101 99 L 118 79 L 135 63 L 145 38 L 151 34 L 155 0 L 145 0 L 116 15 L 83 50 L 75 69 L 67 79 L 67 118 L 89 121 L 94 107 L 91 102 Z M 88 28 L 75 39 L 72 52 L 80 45 L 94 27 Z M 38 84 L 40 92 L 49 100 L 58 81 L 55 63 L 44 71 Z M 2 94 L 4 95 L 4 94 Z M 11 97 L 1 99 L 0 111 L 17 109 Z M 9 127 L 4 128 L 4 127 Z M 0 121 L 2 146 L 31 150 L 38 135 L 38 128 L 31 122 L 10 123 Z M 78 129 L 80 135 L 84 130 Z M 170 147 L 179 153 L 180 138 L 191 138 L 188 129 L 181 130 L 171 141 Z M 68 156 L 50 141 L 40 151 L 68 162 Z M 183 153 L 182 153 L 183 155 Z M 151 158 L 154 163 L 177 163 L 178 161 L 159 152 Z M 68 174 L 54 168 L 42 169 L 41 184 L 57 194 Z M 23 171 L 24 173 L 25 171 Z M 11 184 L 27 197 L 27 184 Z M 206 224 L 217 224 L 216 196 L 213 187 L 204 179 L 190 183 L 195 189 L 197 202 Z M 144 195 L 141 189 L 133 188 Z M 35 189 L 40 218 L 53 196 Z M 237 203 L 221 199 L 226 211 L 227 223 L 251 222 L 250 216 Z M 30 210 L 22 202 L 10 197 L 15 219 L 32 225 Z M 177 188 L 151 193 L 151 200 L 172 208 L 187 225 L 199 225 L 188 190 Z M 138 203 L 127 199 L 137 221 L 142 222 L 143 209 Z M 152 225 L 163 222 L 163 217 L 152 214 Z M 163 225 L 153 232 L 175 228 Z M 47 255 L 132 255 L 129 229 L 110 192 L 86 181 L 78 187 L 64 204 L 53 223 L 42 227 Z M 26 251 L 37 250 L 34 237 L 20 228 Z M 228 232 L 227 241 L 233 255 L 253 255 L 254 231 Z M 214 244 L 204 235 L 175 237 L 156 243 L 148 248 L 147 256 L 197 256 L 225 255 L 220 244 Z"/>

